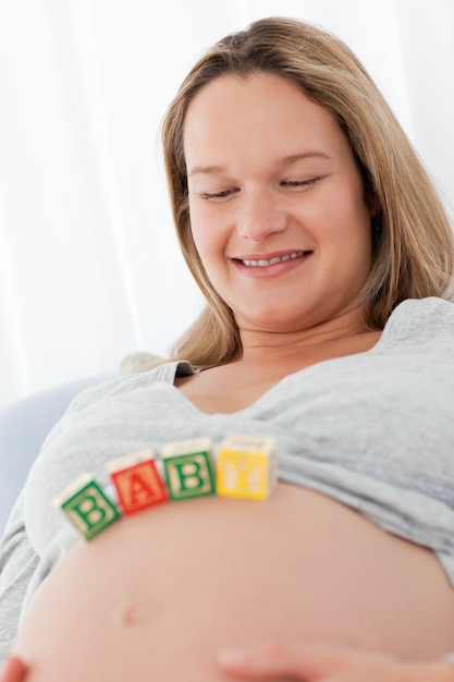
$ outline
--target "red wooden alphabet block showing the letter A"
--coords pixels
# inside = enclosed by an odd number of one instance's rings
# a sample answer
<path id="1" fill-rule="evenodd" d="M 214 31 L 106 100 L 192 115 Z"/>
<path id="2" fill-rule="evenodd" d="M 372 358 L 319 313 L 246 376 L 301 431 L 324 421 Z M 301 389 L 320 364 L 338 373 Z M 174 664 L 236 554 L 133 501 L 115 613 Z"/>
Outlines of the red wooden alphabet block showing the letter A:
<path id="1" fill-rule="evenodd" d="M 169 495 L 152 450 L 139 450 L 107 463 L 123 514 L 165 502 Z"/>

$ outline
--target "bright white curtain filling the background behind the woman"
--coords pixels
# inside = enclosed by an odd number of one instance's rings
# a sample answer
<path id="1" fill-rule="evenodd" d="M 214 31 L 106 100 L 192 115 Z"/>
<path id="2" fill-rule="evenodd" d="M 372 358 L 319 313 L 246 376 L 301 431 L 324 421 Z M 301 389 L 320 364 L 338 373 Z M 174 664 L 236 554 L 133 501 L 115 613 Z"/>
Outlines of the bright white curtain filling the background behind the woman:
<path id="1" fill-rule="evenodd" d="M 206 46 L 275 14 L 356 51 L 453 215 L 452 0 L 0 0 L 0 407 L 194 319 L 159 124 Z"/>

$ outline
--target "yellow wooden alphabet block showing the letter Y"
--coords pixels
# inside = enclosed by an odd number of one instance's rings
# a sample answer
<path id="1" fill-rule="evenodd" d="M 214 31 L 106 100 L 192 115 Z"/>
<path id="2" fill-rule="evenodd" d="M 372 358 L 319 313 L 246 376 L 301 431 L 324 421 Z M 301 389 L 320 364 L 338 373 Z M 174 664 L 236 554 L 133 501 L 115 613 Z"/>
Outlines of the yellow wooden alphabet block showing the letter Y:
<path id="1" fill-rule="evenodd" d="M 223 497 L 265 500 L 277 484 L 274 438 L 231 435 L 221 443 L 216 491 Z"/>

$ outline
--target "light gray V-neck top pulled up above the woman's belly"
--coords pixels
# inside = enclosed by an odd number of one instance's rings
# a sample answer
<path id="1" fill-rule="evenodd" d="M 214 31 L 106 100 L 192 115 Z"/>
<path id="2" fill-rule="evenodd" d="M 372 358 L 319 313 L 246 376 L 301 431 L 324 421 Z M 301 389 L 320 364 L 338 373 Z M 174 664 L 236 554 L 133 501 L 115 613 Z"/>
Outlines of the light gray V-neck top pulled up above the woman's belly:
<path id="1" fill-rule="evenodd" d="M 50 500 L 107 460 L 169 441 L 273 436 L 282 480 L 321 491 L 431 548 L 454 585 L 454 305 L 405 301 L 377 345 L 289 375 L 234 414 L 205 414 L 179 391 L 188 363 L 84 391 L 46 440 L 0 546 L 0 658 L 21 605 L 76 537 Z"/>

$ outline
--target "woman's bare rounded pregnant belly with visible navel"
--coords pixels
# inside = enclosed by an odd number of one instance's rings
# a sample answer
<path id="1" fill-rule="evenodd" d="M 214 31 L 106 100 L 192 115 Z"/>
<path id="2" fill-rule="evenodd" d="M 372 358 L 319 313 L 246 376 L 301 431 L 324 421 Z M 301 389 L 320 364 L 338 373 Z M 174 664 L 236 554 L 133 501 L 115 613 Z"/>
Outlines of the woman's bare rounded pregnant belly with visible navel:
<path id="1" fill-rule="evenodd" d="M 39 589 L 27 682 L 220 682 L 219 648 L 316 637 L 433 657 L 454 645 L 434 556 L 324 496 L 174 502 L 82 540 Z"/>

